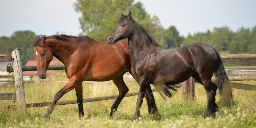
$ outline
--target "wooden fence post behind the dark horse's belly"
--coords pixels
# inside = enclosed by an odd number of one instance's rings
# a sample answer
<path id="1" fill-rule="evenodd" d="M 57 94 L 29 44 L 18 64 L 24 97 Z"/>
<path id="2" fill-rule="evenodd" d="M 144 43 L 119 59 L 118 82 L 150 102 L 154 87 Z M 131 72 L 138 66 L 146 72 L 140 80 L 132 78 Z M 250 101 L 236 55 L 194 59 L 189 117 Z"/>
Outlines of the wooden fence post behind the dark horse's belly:
<path id="1" fill-rule="evenodd" d="M 180 47 L 183 45 L 180 45 Z M 195 99 L 195 79 L 190 77 L 188 80 L 181 83 L 182 87 L 182 100 Z"/>

